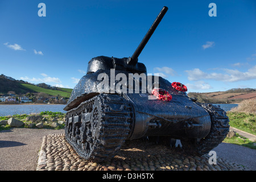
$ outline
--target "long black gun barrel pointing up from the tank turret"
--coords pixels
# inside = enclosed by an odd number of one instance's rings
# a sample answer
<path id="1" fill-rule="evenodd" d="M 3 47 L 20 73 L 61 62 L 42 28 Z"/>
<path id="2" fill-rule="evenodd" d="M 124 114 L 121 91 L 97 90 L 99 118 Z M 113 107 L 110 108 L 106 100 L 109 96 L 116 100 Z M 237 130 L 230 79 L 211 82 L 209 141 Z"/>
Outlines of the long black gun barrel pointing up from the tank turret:
<path id="1" fill-rule="evenodd" d="M 144 36 L 141 43 L 139 44 L 139 46 L 137 47 L 137 49 L 133 53 L 133 56 L 131 56 L 131 59 L 129 61 L 130 65 L 135 65 L 135 64 L 138 63 L 139 55 L 141 54 L 143 48 L 146 46 L 146 44 L 147 44 L 148 40 L 150 39 L 151 35 L 154 33 L 156 27 L 158 27 L 158 24 L 162 20 L 163 16 L 166 14 L 167 10 L 168 10 L 168 7 L 164 6 L 163 9 L 160 11 L 160 13 L 156 17 L 154 23 L 151 25 L 150 29 L 147 31 L 147 34 Z"/>

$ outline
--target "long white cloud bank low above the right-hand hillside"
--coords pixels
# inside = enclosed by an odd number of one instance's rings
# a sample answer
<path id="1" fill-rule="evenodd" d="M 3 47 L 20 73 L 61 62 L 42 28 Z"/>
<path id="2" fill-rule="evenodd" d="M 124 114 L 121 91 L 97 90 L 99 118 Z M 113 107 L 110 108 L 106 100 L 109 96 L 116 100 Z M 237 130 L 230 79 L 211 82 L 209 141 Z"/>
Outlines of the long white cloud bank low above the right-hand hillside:
<path id="1" fill-rule="evenodd" d="M 247 72 L 240 72 L 237 69 L 222 69 L 225 73 L 205 73 L 198 68 L 185 71 L 188 73 L 188 80 L 217 80 L 225 82 L 236 82 L 256 79 L 256 65 Z"/>

